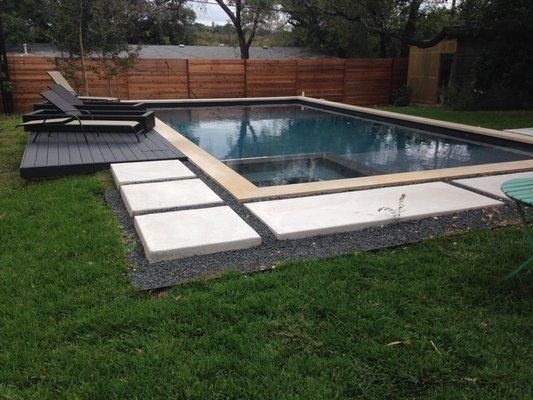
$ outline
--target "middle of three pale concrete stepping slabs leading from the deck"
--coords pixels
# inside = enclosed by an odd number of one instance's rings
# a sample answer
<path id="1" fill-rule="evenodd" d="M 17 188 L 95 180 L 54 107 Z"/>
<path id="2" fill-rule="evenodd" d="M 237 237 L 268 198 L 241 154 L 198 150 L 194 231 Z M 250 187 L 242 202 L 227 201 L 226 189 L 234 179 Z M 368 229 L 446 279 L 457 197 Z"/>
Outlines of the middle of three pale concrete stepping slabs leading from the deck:
<path id="1" fill-rule="evenodd" d="M 132 216 L 223 203 L 222 199 L 199 179 L 123 185 L 120 187 L 120 193 Z"/>

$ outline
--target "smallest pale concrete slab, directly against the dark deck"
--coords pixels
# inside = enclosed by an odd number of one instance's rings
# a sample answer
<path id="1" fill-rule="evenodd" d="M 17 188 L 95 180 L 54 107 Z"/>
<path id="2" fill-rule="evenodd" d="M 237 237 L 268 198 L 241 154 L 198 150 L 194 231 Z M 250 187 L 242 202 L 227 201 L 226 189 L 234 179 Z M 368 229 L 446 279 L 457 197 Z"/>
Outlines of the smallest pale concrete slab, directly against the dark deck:
<path id="1" fill-rule="evenodd" d="M 111 173 L 117 187 L 132 183 L 196 178 L 196 175 L 178 160 L 111 164 Z"/>

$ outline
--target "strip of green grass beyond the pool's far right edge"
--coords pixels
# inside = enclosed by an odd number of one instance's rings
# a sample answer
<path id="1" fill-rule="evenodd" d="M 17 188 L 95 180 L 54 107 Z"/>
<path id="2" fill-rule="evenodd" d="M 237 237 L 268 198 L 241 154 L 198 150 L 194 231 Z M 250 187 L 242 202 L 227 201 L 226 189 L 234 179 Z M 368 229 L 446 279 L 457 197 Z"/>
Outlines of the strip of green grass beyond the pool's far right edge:
<path id="1" fill-rule="evenodd" d="M 533 127 L 533 110 L 454 111 L 443 107 L 383 107 L 384 110 L 492 129 Z"/>

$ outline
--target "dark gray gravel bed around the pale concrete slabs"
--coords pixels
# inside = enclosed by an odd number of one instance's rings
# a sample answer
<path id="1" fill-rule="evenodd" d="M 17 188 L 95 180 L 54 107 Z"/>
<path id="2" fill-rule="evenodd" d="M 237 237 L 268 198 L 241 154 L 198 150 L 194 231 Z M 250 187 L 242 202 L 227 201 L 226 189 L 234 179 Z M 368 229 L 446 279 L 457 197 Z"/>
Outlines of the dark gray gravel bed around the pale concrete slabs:
<path id="1" fill-rule="evenodd" d="M 117 216 L 124 232 L 128 260 L 132 265 L 130 270 L 132 283 L 140 289 L 169 287 L 191 279 L 216 275 L 220 271 L 229 269 L 254 272 L 270 269 L 285 260 L 325 258 L 358 250 L 368 251 L 395 247 L 417 242 L 424 238 L 450 235 L 472 228 L 494 226 L 516 218 L 513 207 L 506 204 L 503 207 L 465 211 L 384 227 L 373 227 L 356 232 L 298 240 L 277 240 L 268 228 L 252 216 L 242 204 L 237 203 L 192 164 L 188 162 L 185 164 L 261 235 L 263 243 L 252 249 L 149 264 L 135 232 L 133 219 L 124 207 L 119 191 L 116 189 L 108 190 L 105 193 L 105 199 Z"/>

